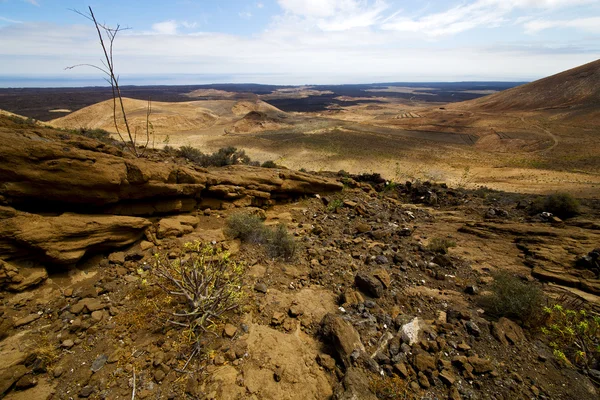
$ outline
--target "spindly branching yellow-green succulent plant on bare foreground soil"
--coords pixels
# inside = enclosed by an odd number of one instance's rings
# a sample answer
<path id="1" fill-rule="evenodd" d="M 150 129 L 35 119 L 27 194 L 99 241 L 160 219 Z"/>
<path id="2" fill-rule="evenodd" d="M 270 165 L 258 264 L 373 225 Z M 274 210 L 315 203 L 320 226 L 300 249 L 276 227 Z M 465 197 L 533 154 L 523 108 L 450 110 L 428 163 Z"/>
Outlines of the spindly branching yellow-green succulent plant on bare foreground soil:
<path id="1" fill-rule="evenodd" d="M 157 254 L 152 271 L 158 285 L 186 305 L 183 310 L 164 311 L 174 325 L 206 330 L 241 304 L 244 265 L 213 246 L 186 243 L 184 255 L 175 260 Z"/>

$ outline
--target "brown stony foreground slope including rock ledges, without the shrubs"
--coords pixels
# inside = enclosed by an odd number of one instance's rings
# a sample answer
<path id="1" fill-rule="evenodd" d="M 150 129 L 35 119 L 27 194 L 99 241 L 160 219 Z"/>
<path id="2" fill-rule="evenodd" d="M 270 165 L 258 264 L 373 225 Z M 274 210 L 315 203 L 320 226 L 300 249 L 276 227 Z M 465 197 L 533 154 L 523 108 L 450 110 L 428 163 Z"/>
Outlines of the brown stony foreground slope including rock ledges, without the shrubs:
<path id="1" fill-rule="evenodd" d="M 479 300 L 507 270 L 550 304 L 598 312 L 597 202 L 562 221 L 530 216 L 522 195 L 205 170 L 10 128 L 0 129 L 17 143 L 3 146 L 12 164 L 0 162 L 0 397 L 598 398 L 597 366 L 566 366 L 533 324 L 494 318 Z M 69 197 L 73 165 L 83 178 Z M 285 224 L 295 255 L 226 235 L 239 212 Z M 456 246 L 442 254 L 436 239 Z M 185 258 L 195 241 L 244 265 L 239 309 L 201 334 L 166 321 L 178 304 L 154 274 L 156 255 Z"/>

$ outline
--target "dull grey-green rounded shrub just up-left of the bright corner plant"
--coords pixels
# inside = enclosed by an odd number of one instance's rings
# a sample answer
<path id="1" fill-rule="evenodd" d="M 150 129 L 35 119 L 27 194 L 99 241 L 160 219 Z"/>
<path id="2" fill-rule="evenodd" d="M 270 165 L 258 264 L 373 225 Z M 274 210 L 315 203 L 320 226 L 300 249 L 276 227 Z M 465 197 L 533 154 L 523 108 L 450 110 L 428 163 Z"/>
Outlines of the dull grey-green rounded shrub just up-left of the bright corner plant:
<path id="1" fill-rule="evenodd" d="M 493 276 L 491 293 L 482 295 L 479 299 L 483 309 L 496 317 L 507 317 L 535 325 L 535 317 L 539 317 L 537 314 L 544 300 L 542 289 L 507 272 L 498 272 Z"/>

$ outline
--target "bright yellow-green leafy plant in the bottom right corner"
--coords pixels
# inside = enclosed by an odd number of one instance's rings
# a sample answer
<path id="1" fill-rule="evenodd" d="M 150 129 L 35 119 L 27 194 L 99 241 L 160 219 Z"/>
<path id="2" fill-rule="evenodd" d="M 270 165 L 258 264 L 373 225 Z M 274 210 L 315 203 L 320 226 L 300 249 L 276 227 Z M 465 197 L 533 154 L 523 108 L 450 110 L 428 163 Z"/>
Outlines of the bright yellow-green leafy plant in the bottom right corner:
<path id="1" fill-rule="evenodd" d="M 554 356 L 567 365 L 593 368 L 600 360 L 600 317 L 560 304 L 544 307 L 544 314 L 547 319 L 541 330 Z"/>

